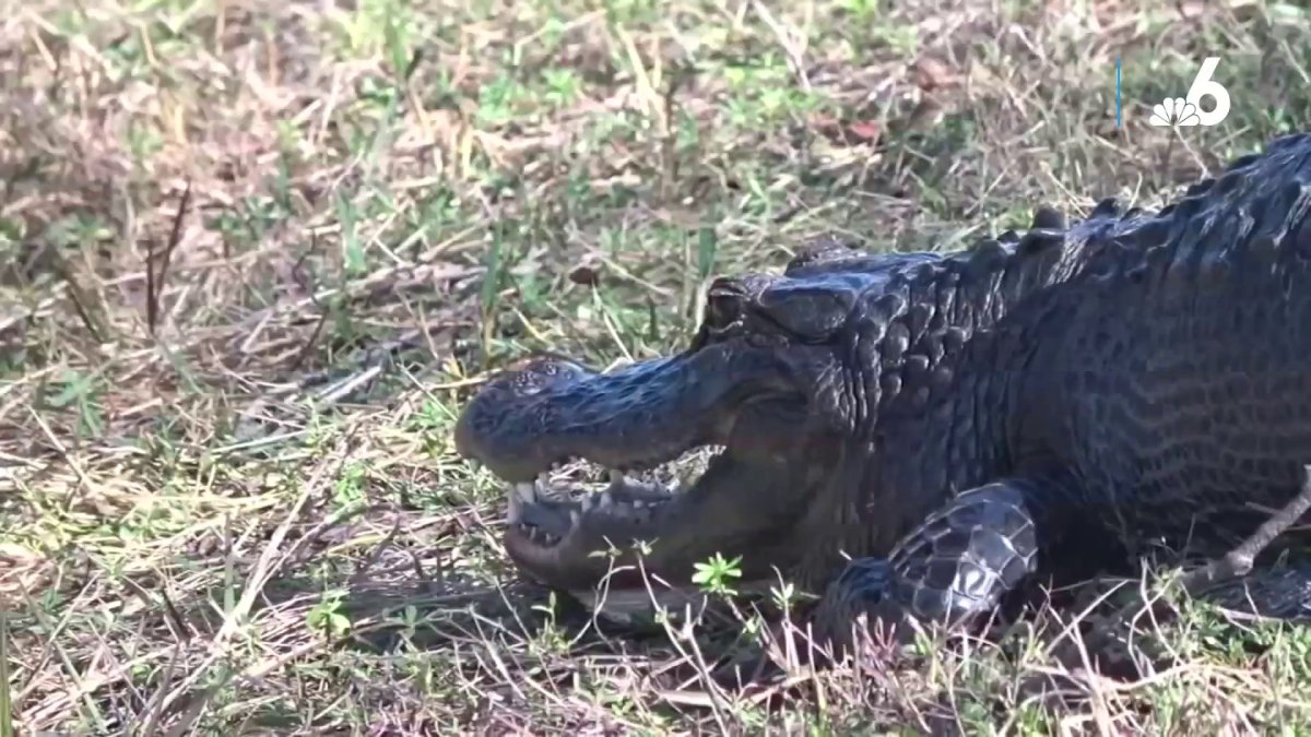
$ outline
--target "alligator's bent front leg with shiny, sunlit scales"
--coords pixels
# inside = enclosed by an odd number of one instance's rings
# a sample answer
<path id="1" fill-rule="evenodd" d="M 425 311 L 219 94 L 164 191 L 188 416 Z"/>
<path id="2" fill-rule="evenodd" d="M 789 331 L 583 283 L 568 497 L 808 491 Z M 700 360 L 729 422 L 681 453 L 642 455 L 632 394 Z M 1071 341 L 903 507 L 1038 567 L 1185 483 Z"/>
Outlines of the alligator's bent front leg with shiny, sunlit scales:
<path id="1" fill-rule="evenodd" d="M 948 627 L 987 615 L 1037 570 L 1040 540 L 1063 525 L 1044 481 L 1008 479 L 965 492 L 928 517 L 888 559 L 851 561 L 814 615 L 839 648 L 860 614 L 897 626 L 905 615 Z"/>

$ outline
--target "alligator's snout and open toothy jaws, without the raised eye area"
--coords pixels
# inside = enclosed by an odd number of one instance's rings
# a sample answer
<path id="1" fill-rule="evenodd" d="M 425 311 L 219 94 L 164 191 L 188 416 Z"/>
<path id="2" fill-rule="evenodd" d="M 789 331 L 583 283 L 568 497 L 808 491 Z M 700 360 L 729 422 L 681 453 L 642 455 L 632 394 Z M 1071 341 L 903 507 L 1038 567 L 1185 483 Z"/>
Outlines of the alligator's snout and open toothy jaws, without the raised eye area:
<path id="1" fill-rule="evenodd" d="M 750 551 L 762 569 L 743 561 L 746 584 L 784 556 L 772 548 L 805 508 L 801 476 L 815 466 L 798 459 L 810 452 L 810 416 L 796 368 L 776 350 L 741 344 L 699 345 L 607 374 L 538 359 L 484 387 L 456 424 L 456 446 L 505 481 L 506 551 L 532 578 L 576 595 L 602 581 L 645 588 L 645 577 L 679 586 L 695 563 Z M 682 493 L 627 476 L 717 447 Z M 541 476 L 574 459 L 608 469 L 610 487 L 561 498 Z M 649 543 L 641 568 L 637 543 Z"/>

